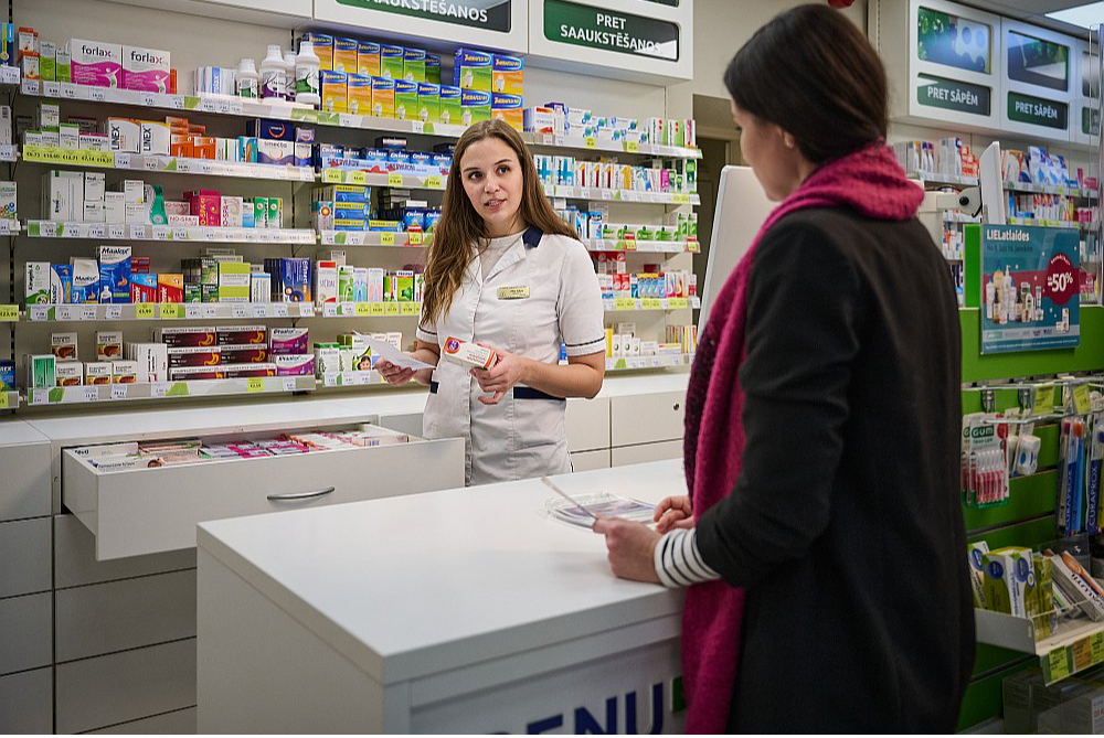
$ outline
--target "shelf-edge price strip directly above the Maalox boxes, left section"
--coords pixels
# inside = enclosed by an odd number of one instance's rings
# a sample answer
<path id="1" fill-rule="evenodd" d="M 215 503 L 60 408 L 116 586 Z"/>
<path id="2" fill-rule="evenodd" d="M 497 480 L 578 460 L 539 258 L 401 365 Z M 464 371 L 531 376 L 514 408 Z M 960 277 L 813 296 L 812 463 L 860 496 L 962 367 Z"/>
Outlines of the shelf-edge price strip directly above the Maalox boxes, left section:
<path id="1" fill-rule="evenodd" d="M 224 228 L 206 225 L 121 225 L 28 221 L 31 238 L 95 238 L 110 240 L 185 240 L 201 244 L 316 244 L 309 228 Z"/>

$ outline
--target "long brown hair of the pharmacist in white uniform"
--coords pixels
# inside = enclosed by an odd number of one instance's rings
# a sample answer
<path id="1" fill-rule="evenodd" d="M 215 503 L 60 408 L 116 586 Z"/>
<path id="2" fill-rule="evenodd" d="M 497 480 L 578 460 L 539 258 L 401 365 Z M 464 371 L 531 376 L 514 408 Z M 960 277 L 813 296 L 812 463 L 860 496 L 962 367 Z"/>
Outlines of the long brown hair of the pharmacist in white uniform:
<path id="1" fill-rule="evenodd" d="M 433 228 L 433 243 L 427 249 L 425 265 L 425 287 L 422 292 L 422 314 L 427 320 L 436 320 L 448 312 L 453 297 L 460 288 L 464 270 L 471 260 L 471 247 L 487 237 L 487 226 L 471 205 L 464 182 L 460 179 L 460 161 L 473 143 L 488 138 L 505 141 L 513 149 L 521 167 L 521 205 L 518 214 L 523 224 L 537 226 L 544 233 L 577 238 L 578 234 L 569 226 L 544 196 L 533 156 L 526 142 L 506 121 L 481 120 L 469 126 L 453 153 L 453 165 L 448 170 L 448 184 L 442 205 L 440 221 Z"/>

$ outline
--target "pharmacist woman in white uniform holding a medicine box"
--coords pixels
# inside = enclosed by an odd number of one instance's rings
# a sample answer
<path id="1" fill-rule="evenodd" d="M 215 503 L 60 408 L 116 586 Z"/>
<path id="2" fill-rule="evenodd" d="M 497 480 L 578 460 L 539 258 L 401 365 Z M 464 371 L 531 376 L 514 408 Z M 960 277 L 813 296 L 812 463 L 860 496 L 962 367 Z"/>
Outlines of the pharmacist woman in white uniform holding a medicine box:
<path id="1" fill-rule="evenodd" d="M 449 338 L 493 349 L 498 360 L 489 370 L 443 360 Z M 429 385 L 425 436 L 465 439 L 468 484 L 571 471 L 565 398 L 602 388 L 602 296 L 590 254 L 501 120 L 469 127 L 456 145 L 416 339 L 412 355 L 436 368 L 376 368 L 394 385 Z"/>

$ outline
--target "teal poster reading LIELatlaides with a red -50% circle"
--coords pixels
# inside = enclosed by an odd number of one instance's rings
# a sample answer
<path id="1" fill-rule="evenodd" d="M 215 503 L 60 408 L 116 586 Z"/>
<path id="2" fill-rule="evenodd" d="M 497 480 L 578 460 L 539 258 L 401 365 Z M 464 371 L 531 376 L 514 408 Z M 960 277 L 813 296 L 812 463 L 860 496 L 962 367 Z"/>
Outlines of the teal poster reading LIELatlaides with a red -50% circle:
<path id="1" fill-rule="evenodd" d="M 1076 346 L 1080 286 L 1076 229 L 981 226 L 981 353 Z"/>

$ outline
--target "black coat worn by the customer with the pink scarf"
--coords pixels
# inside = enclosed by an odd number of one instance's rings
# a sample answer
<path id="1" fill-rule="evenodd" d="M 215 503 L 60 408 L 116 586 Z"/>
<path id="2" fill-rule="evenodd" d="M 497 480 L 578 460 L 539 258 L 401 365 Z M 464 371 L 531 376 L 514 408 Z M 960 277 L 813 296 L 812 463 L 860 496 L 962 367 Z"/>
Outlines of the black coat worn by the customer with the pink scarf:
<path id="1" fill-rule="evenodd" d="M 915 220 L 790 214 L 755 256 L 746 349 L 743 468 L 698 524 L 747 590 L 729 729 L 953 731 L 974 614 L 947 264 Z"/>

